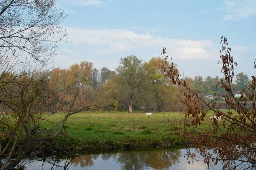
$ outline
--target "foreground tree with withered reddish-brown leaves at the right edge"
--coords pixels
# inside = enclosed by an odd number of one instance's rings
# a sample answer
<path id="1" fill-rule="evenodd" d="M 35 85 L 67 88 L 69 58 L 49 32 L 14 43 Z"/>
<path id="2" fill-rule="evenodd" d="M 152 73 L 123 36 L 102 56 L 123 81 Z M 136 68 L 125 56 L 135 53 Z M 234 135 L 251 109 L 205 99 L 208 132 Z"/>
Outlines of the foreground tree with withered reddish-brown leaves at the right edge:
<path id="1" fill-rule="evenodd" d="M 221 37 L 221 45 L 219 63 L 222 64 L 224 79 L 221 79 L 219 84 L 227 93 L 222 95 L 226 98 L 223 105 L 227 111 L 221 110 L 221 105 L 216 104 L 215 101 L 206 102 L 200 98 L 199 92 L 187 86 L 186 80 L 181 78 L 177 69 L 174 69 L 174 63 L 163 67 L 172 79 L 172 83 L 184 88 L 183 104 L 186 105 L 184 112 L 186 118 L 182 121 L 184 130 L 181 131 L 175 126 L 175 134 L 183 134 L 184 138 L 192 141 L 208 167 L 223 161 L 223 169 L 253 169 L 256 167 L 256 77 L 252 76 L 248 92 L 243 90 L 241 97 L 235 98 L 231 85 L 237 63 L 231 56 L 231 49 L 227 47 L 227 38 Z M 167 59 L 165 50 L 164 48 L 162 54 Z M 200 107 L 199 101 L 207 107 Z M 248 101 L 252 103 L 249 104 Z M 211 124 L 204 121 L 209 120 L 210 111 L 214 112 L 217 118 L 222 118 L 219 124 L 216 119 Z M 191 152 L 188 152 L 188 156 L 195 158 L 195 154 Z"/>

